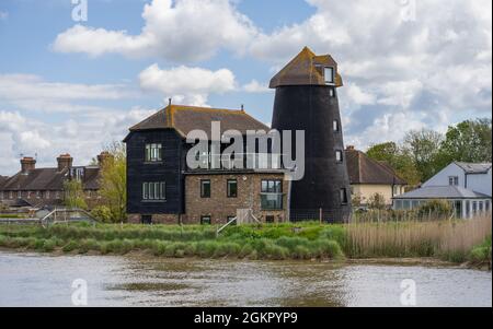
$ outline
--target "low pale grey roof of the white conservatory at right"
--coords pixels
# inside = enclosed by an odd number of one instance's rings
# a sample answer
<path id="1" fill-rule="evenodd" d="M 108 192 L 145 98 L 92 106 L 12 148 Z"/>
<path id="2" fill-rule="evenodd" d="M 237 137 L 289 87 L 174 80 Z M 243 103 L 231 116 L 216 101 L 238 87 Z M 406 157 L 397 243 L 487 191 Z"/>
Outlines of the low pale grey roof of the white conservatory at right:
<path id="1" fill-rule="evenodd" d="M 394 199 L 488 199 L 490 196 L 478 193 L 460 186 L 428 186 L 415 189 Z"/>

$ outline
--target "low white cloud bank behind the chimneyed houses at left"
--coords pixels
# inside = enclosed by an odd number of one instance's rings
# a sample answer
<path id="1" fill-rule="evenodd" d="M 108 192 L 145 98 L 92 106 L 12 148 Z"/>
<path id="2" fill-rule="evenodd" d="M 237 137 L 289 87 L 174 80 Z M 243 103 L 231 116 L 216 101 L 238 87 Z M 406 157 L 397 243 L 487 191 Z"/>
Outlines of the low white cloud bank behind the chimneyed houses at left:
<path id="1" fill-rule="evenodd" d="M 133 108 L 112 115 L 94 113 L 84 120 L 47 122 L 19 111 L 0 110 L 0 175 L 19 171 L 20 154 L 37 154 L 37 167 L 56 166 L 56 157 L 62 153 L 70 153 L 77 165 L 87 165 L 104 144 L 123 140 L 128 127 L 153 113 Z"/>

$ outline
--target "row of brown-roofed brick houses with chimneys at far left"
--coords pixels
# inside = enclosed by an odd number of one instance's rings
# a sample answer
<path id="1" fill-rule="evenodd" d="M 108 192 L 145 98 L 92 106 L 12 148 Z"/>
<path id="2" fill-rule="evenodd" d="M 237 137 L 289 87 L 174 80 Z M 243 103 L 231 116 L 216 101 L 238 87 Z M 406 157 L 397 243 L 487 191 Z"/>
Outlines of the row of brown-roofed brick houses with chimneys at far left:
<path id="1" fill-rule="evenodd" d="M 64 183 L 78 179 L 82 183 L 88 205 L 94 207 L 100 198 L 100 165 L 110 156 L 98 156 L 99 165 L 73 166 L 70 154 L 57 157 L 57 167 L 36 168 L 36 160 L 23 157 L 21 171 L 12 177 L 0 178 L 0 203 L 9 208 L 54 208 L 64 203 Z"/>

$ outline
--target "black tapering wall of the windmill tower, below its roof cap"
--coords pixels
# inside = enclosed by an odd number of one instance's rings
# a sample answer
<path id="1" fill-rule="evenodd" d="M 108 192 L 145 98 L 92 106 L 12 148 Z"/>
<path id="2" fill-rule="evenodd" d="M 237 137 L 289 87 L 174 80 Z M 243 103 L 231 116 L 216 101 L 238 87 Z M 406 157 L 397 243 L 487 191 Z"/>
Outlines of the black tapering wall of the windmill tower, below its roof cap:
<path id="1" fill-rule="evenodd" d="M 305 130 L 305 178 L 294 181 L 290 213 L 301 219 L 322 209 L 326 220 L 345 221 L 351 214 L 349 178 L 345 158 L 336 161 L 336 152 L 344 151 L 342 130 L 333 130 L 333 121 L 341 122 L 336 95 L 330 95 L 331 86 L 294 85 L 276 89 L 273 128 L 278 130 Z M 341 200 L 345 189 L 347 200 Z M 310 218 L 305 218 L 310 220 Z"/>

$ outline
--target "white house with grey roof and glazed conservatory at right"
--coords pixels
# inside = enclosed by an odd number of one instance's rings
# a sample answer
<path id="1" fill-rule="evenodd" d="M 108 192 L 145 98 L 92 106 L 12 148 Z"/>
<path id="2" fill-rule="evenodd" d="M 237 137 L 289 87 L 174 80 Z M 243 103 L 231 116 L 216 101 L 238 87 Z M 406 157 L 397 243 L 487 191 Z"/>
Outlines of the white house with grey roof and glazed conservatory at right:
<path id="1" fill-rule="evenodd" d="M 457 218 L 470 219 L 491 212 L 492 164 L 454 162 L 421 188 L 393 198 L 393 209 L 412 210 L 429 200 L 446 200 Z"/>

